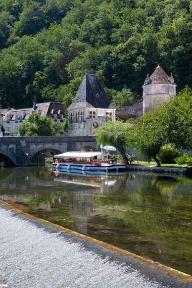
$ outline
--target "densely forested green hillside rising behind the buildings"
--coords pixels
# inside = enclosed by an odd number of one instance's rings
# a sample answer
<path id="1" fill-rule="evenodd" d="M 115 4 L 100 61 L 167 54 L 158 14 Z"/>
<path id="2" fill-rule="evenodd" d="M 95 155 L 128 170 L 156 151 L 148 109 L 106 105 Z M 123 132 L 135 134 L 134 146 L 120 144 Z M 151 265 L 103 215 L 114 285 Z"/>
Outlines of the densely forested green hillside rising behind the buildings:
<path id="1" fill-rule="evenodd" d="M 191 0 L 0 0 L 0 104 L 70 104 L 85 70 L 118 105 L 158 63 L 192 83 Z"/>

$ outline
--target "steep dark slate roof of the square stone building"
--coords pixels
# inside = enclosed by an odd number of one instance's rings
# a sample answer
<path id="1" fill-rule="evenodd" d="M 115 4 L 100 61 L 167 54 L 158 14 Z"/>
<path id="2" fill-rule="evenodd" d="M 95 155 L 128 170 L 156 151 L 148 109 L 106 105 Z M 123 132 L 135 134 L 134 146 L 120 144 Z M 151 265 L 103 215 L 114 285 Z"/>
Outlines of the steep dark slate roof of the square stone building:
<path id="1" fill-rule="evenodd" d="M 73 103 L 67 110 L 93 107 L 115 109 L 97 75 L 85 74 Z"/>

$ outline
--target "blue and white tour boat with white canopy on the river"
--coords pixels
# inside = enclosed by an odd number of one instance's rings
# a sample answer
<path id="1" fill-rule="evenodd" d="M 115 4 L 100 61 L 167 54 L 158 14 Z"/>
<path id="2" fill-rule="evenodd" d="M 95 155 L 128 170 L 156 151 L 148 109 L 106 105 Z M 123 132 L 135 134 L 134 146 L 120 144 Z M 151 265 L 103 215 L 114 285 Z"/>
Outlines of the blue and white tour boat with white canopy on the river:
<path id="1" fill-rule="evenodd" d="M 126 165 L 117 164 L 114 160 L 101 160 L 102 152 L 66 152 L 55 155 L 53 168 L 83 171 L 109 171 L 125 169 Z M 96 158 L 96 159 L 95 159 Z"/>

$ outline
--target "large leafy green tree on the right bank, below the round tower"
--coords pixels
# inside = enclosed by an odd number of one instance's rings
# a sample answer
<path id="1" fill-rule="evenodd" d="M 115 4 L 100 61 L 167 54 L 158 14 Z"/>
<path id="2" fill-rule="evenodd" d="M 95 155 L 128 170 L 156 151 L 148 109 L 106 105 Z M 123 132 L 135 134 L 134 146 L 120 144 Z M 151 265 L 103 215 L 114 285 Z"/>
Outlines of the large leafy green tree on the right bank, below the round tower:
<path id="1" fill-rule="evenodd" d="M 192 148 L 192 89 L 186 86 L 170 102 L 159 105 L 153 113 L 132 121 L 127 131 L 127 145 L 134 147 L 148 160 L 154 158 L 163 145 L 173 143 L 177 148 Z"/>

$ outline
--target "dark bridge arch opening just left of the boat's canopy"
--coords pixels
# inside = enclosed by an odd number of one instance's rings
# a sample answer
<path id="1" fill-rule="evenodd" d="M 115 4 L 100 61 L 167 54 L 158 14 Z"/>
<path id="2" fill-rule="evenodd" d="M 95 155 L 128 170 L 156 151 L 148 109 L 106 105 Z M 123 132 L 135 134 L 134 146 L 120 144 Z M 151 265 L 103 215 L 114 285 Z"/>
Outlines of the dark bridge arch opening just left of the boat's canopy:
<path id="1" fill-rule="evenodd" d="M 30 160 L 30 165 L 41 165 L 43 166 L 45 164 L 45 158 L 52 158 L 54 155 L 63 153 L 60 150 L 54 149 L 54 148 L 46 148 L 37 151 L 35 154 L 32 155 Z"/>

